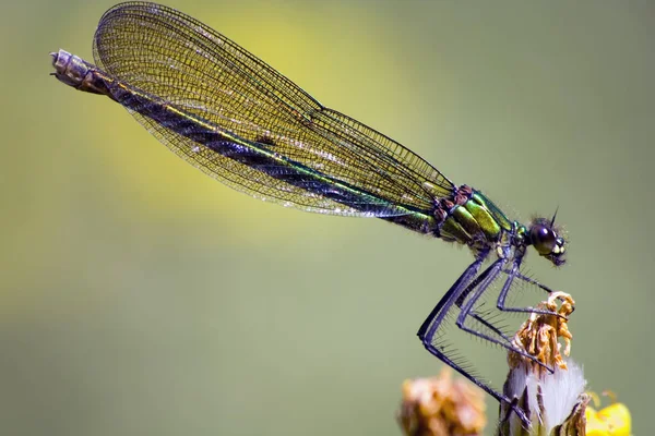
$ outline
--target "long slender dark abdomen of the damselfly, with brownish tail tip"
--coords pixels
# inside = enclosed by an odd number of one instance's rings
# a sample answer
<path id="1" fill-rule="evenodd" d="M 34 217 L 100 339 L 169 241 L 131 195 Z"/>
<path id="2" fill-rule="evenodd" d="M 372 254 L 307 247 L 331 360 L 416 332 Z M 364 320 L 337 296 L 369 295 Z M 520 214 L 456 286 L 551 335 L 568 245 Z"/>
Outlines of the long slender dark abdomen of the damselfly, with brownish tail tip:
<path id="1" fill-rule="evenodd" d="M 198 144 L 198 147 L 192 149 L 211 150 L 230 161 L 248 166 L 288 185 L 314 194 L 314 197 L 343 204 L 345 210 L 355 210 L 360 216 L 361 213 L 365 216 L 370 214 L 371 217 L 385 219 L 420 233 L 434 234 L 437 221 L 429 210 L 417 210 L 395 204 L 275 153 L 275 144 L 270 138 L 262 142 L 243 140 L 193 113 L 188 113 L 183 107 L 171 105 L 158 96 L 115 80 L 68 51 L 59 50 L 58 53 L 51 55 L 55 75 L 59 81 L 79 90 L 110 97 L 130 111 L 152 120 L 154 124 L 151 124 L 151 130 L 157 130 L 158 125 Z M 190 157 L 189 161 L 198 161 L 191 152 L 180 149 Z M 235 174 L 241 172 L 234 171 Z M 229 171 L 225 173 L 229 174 Z"/>

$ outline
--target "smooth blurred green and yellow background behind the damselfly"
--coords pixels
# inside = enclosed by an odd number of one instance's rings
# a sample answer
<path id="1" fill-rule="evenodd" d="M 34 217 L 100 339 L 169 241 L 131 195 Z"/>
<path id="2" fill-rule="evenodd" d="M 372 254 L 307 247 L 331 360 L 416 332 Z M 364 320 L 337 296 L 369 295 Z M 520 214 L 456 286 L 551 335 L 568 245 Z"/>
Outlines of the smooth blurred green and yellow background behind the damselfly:
<path id="1" fill-rule="evenodd" d="M 50 77 L 112 4 L 1 7 L 0 434 L 397 435 L 402 380 L 441 367 L 416 329 L 469 254 L 233 192 Z M 650 433 L 653 3 L 167 4 L 513 217 L 559 206 L 570 263 L 529 268 Z"/>

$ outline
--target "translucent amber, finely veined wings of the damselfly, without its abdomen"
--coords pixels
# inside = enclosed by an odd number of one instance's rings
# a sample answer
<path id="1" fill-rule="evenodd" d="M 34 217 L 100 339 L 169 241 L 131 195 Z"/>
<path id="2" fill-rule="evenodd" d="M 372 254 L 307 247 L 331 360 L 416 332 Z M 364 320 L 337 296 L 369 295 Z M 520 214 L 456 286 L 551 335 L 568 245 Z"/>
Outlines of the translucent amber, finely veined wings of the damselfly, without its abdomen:
<path id="1" fill-rule="evenodd" d="M 295 162 L 325 182 L 359 191 L 361 203 L 371 207 L 345 210 L 315 190 L 287 183 L 279 171 L 271 177 L 226 154 L 214 154 L 207 164 L 207 150 L 189 153 L 198 144 L 188 135 L 135 114 L 170 148 L 239 191 L 307 210 L 365 216 L 428 214 L 434 197 L 452 192 L 452 183 L 416 154 L 323 108 L 263 61 L 172 9 L 142 2 L 110 9 L 100 19 L 94 56 L 118 81 L 234 134 L 252 149 L 283 157 L 285 165 Z"/>

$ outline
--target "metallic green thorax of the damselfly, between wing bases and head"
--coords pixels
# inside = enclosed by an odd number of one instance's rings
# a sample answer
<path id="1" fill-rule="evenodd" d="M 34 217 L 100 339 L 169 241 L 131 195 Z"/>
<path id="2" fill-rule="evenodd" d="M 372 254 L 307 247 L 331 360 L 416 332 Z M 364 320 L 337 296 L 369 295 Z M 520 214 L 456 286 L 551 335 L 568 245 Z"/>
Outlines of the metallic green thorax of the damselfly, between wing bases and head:
<path id="1" fill-rule="evenodd" d="M 454 206 L 440 228 L 444 241 L 474 245 L 476 242 L 496 242 L 503 231 L 511 231 L 512 222 L 483 193 L 473 191 L 463 205 Z M 480 241 L 481 239 L 481 241 Z"/>

